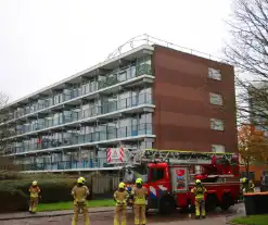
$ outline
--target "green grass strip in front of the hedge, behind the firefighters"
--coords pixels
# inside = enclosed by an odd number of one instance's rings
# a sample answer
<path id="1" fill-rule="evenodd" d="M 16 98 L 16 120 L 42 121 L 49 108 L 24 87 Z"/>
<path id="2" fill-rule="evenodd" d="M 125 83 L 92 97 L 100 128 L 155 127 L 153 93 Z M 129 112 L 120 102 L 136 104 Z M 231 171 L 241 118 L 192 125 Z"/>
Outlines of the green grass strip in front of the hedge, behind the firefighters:
<path id="1" fill-rule="evenodd" d="M 89 208 L 98 208 L 98 207 L 114 207 L 115 202 L 113 199 L 103 199 L 103 200 L 91 200 L 88 201 Z M 39 212 L 46 211 L 58 211 L 58 210 L 73 210 L 74 202 L 65 201 L 65 202 L 56 202 L 56 203 L 40 203 L 38 204 Z"/>

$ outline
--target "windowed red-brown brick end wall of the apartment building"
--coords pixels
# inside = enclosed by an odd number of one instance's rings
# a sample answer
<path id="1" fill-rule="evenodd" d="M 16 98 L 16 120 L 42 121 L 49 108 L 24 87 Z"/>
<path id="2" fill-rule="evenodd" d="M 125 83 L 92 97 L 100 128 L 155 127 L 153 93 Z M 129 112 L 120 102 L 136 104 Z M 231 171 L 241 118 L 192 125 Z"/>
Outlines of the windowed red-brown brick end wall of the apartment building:
<path id="1" fill-rule="evenodd" d="M 208 78 L 208 67 L 220 70 L 221 80 Z M 228 64 L 155 46 L 153 115 L 156 149 L 210 151 L 222 145 L 237 151 L 234 72 Z M 213 105 L 209 92 L 220 93 L 224 105 Z M 225 122 L 212 130 L 210 118 Z"/>

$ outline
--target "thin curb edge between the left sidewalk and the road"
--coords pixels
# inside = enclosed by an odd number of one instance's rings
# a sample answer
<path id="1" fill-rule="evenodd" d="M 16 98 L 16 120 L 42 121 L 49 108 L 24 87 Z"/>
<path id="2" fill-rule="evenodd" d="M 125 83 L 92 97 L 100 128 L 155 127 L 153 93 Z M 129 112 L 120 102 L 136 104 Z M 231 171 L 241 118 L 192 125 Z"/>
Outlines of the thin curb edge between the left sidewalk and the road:
<path id="1" fill-rule="evenodd" d="M 110 210 L 100 210 L 100 211 L 93 211 L 93 212 L 90 212 L 89 211 L 89 214 L 94 214 L 94 213 L 103 213 L 103 212 L 113 212 L 114 209 L 110 209 Z M 72 212 L 66 212 L 64 213 L 63 212 L 59 212 L 59 213 L 55 213 L 55 214 L 29 214 L 29 215 L 26 215 L 26 216 L 16 216 L 16 217 L 0 217 L 0 221 L 17 221 L 17 220 L 25 220 L 25 218 L 40 218 L 40 217 L 56 217 L 56 216 L 65 216 L 65 215 L 73 215 L 74 213 Z"/>

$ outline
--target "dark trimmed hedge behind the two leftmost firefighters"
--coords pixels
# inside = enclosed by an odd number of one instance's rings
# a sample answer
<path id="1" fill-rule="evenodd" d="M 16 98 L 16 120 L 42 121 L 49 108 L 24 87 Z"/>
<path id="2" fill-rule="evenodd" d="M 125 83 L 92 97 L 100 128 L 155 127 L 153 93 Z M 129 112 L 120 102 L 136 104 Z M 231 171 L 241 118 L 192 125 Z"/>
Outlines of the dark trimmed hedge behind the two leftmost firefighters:
<path id="1" fill-rule="evenodd" d="M 25 211 L 28 209 L 28 188 L 33 179 L 0 180 L 0 212 Z M 40 179 L 41 202 L 52 203 L 71 201 L 72 188 L 76 184 L 74 178 Z M 87 184 L 90 187 L 90 184 Z M 90 197 L 89 197 L 90 198 Z"/>

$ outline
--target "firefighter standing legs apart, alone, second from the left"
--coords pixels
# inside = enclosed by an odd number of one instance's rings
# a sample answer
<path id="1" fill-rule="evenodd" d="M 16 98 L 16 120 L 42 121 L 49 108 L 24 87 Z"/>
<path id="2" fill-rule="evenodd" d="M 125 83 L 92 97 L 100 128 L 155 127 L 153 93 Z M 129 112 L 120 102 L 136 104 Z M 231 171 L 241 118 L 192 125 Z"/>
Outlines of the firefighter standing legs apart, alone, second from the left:
<path id="1" fill-rule="evenodd" d="M 72 195 L 74 197 L 74 217 L 72 225 L 76 225 L 78 222 L 78 214 L 81 210 L 84 215 L 85 225 L 89 225 L 88 207 L 87 207 L 87 196 L 89 195 L 89 189 L 85 185 L 85 178 L 79 177 L 77 179 L 77 185 L 73 188 Z"/>

